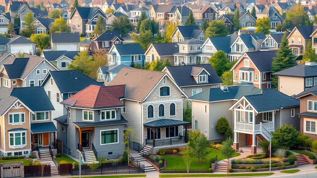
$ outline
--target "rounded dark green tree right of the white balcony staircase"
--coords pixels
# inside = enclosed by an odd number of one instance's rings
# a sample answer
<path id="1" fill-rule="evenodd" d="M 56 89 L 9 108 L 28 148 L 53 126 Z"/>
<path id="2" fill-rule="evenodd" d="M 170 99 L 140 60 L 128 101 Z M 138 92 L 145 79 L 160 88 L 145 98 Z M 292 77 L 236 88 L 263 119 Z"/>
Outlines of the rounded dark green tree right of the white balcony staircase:
<path id="1" fill-rule="evenodd" d="M 299 131 L 293 125 L 283 124 L 272 132 L 272 142 L 277 147 L 292 148 L 298 143 Z"/>

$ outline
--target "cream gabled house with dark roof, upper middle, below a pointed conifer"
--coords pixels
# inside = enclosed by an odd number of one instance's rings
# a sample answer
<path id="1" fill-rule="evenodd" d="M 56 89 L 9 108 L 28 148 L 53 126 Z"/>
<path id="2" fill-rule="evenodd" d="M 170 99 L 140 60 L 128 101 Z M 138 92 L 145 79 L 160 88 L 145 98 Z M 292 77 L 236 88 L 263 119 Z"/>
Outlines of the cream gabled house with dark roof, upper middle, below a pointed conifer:
<path id="1" fill-rule="evenodd" d="M 190 39 L 205 40 L 205 33 L 198 26 L 177 26 L 171 35 L 173 42 L 182 42 Z"/>

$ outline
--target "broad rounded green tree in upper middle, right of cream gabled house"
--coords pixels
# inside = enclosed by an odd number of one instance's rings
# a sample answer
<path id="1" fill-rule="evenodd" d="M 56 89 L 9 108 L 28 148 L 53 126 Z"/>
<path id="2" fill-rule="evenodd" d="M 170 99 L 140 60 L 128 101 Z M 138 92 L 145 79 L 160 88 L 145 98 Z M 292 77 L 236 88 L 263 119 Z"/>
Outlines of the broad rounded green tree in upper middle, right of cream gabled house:
<path id="1" fill-rule="evenodd" d="M 205 30 L 205 33 L 206 37 L 227 36 L 228 28 L 222 20 L 212 20 L 209 22 L 209 26 Z"/>

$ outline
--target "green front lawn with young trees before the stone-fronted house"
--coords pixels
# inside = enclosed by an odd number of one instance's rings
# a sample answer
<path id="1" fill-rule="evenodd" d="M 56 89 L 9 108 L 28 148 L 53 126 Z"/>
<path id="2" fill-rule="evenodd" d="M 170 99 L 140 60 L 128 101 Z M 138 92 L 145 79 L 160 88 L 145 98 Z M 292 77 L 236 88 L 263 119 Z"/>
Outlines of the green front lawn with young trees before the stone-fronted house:
<path id="1" fill-rule="evenodd" d="M 191 169 L 208 169 L 209 168 L 209 160 L 210 158 L 215 158 L 217 155 L 217 161 L 226 159 L 219 149 L 207 148 L 208 155 L 204 160 L 200 160 L 198 162 L 198 158 L 193 158 L 191 161 L 190 168 Z M 234 153 L 233 157 L 239 156 L 240 153 Z M 168 162 L 166 169 L 186 169 L 185 162 L 182 156 L 164 156 L 165 160 Z"/>

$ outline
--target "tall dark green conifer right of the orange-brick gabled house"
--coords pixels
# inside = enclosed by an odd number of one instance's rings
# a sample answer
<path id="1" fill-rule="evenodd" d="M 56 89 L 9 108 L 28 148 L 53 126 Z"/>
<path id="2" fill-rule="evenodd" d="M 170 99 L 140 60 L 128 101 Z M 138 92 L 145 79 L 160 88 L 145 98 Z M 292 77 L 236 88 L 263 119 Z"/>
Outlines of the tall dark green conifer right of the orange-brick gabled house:
<path id="1" fill-rule="evenodd" d="M 289 67 L 295 66 L 295 57 L 292 49 L 288 47 L 288 39 L 286 34 L 283 35 L 280 48 L 277 49 L 276 56 L 273 58 L 271 73 L 279 72 Z M 278 79 L 273 76 L 271 84 L 274 88 L 278 87 Z"/>

